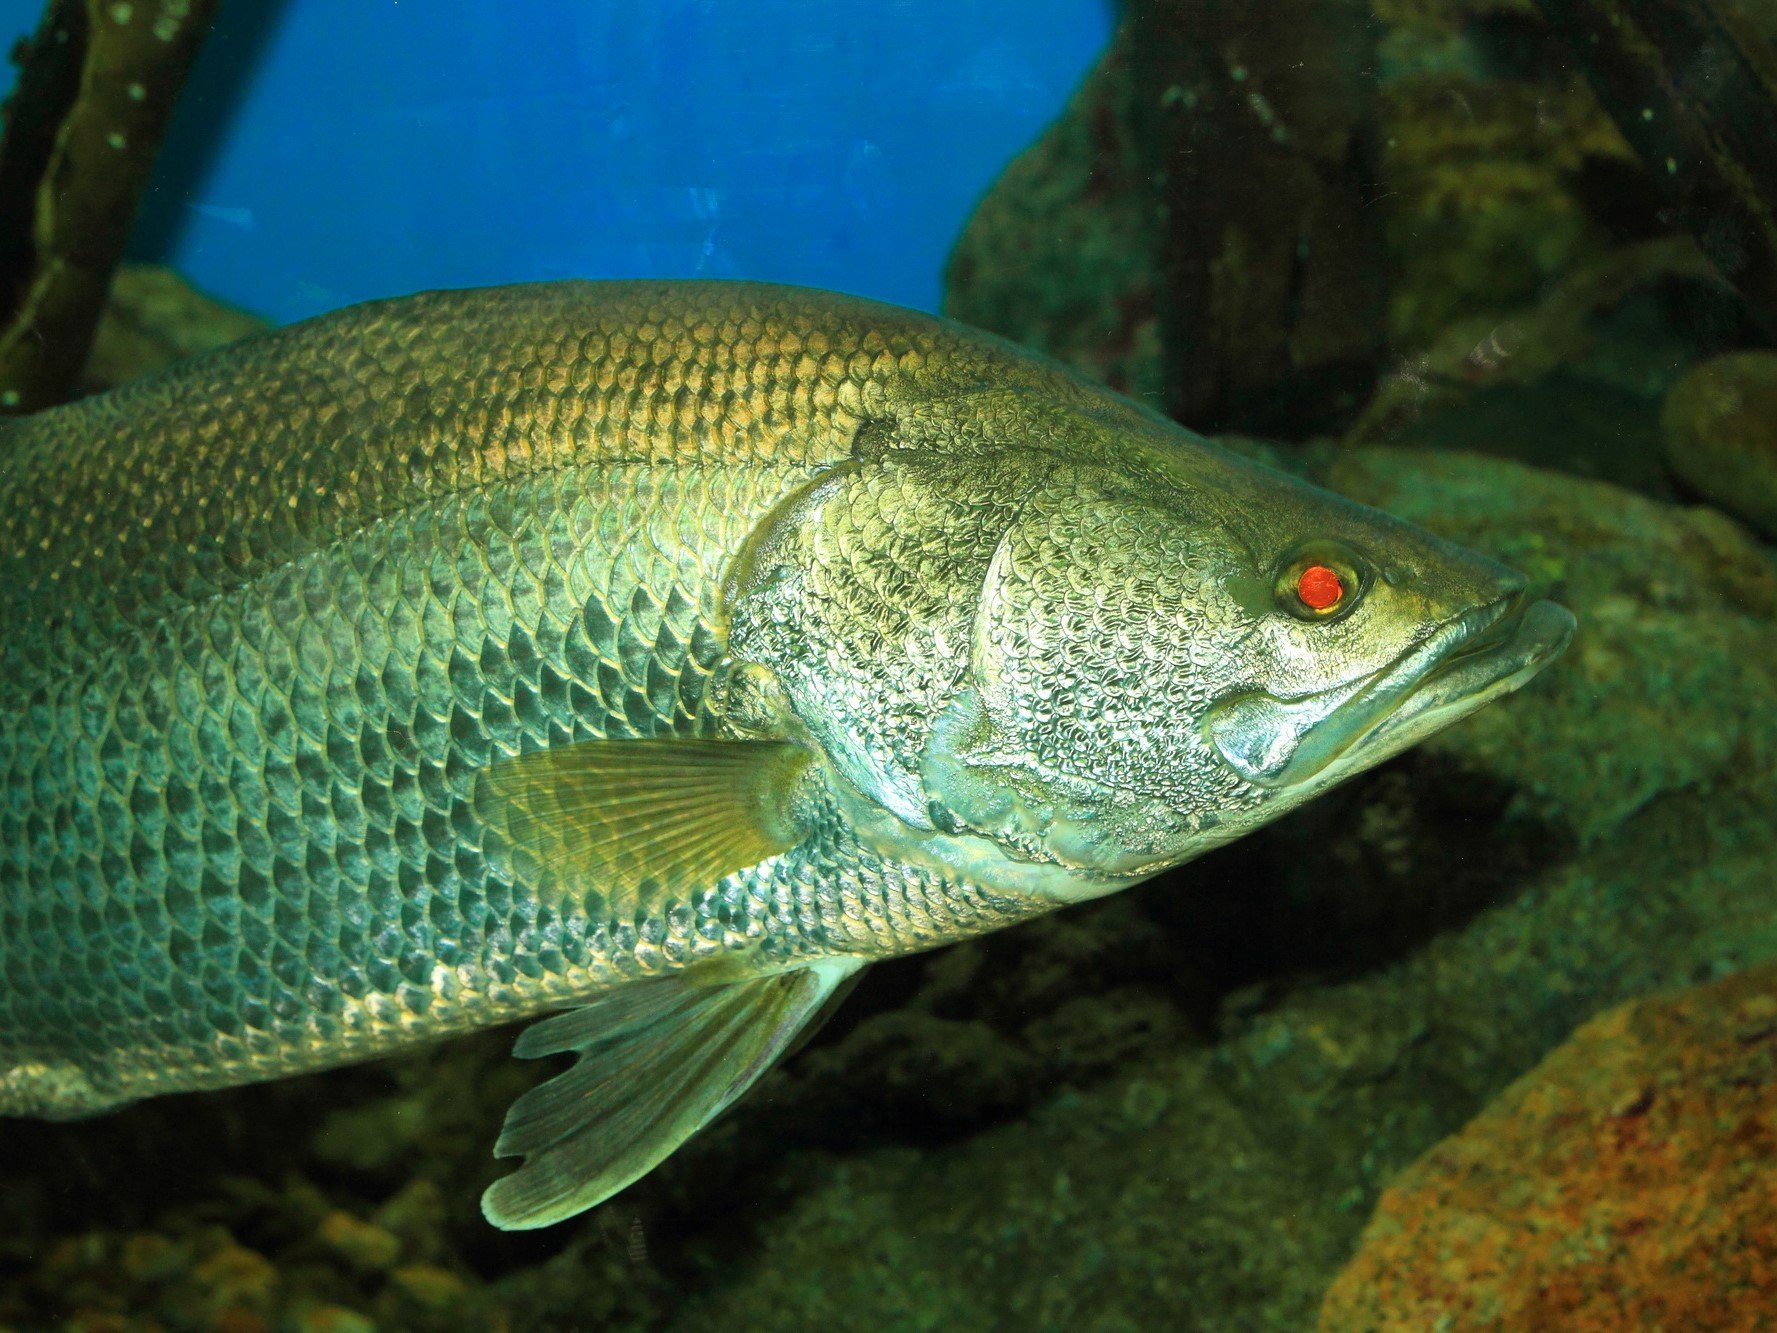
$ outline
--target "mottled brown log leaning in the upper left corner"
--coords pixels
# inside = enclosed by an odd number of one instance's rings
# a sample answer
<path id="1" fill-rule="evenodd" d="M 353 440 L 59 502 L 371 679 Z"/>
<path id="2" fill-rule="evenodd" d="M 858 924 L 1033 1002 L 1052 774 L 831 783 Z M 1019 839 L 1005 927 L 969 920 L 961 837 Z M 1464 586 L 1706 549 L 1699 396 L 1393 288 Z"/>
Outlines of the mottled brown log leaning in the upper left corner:
<path id="1" fill-rule="evenodd" d="M 220 0 L 52 0 L 0 137 L 0 412 L 68 398 Z"/>

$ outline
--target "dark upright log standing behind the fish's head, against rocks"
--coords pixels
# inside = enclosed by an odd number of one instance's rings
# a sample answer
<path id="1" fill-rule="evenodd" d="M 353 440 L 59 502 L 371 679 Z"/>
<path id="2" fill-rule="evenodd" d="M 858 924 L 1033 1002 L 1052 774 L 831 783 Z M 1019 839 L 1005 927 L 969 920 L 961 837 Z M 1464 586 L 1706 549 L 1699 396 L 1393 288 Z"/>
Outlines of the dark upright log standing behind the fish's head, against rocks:
<path id="1" fill-rule="evenodd" d="M 1283 432 L 1347 412 L 1383 341 L 1368 7 L 1132 0 L 1127 23 L 1167 412 Z"/>

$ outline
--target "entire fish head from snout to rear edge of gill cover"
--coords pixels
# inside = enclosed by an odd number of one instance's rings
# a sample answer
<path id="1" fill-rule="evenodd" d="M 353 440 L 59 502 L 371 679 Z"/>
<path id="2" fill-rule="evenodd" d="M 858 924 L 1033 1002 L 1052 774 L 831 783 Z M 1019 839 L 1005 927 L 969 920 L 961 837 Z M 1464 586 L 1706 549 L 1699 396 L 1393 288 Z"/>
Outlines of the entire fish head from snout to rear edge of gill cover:
<path id="1" fill-rule="evenodd" d="M 1136 883 L 1523 684 L 1573 617 L 1169 423 L 837 469 L 730 583 L 766 709 L 865 842 L 1008 892 Z M 759 709 L 753 709 L 755 713 Z"/>

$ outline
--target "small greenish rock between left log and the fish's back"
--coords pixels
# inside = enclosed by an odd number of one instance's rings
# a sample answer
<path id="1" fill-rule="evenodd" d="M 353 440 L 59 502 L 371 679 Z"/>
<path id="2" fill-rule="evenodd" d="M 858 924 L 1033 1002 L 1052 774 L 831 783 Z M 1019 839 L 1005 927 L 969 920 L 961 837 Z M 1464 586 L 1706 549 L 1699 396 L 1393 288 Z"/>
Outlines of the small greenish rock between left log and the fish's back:
<path id="1" fill-rule="evenodd" d="M 270 329 L 153 263 L 119 265 L 80 373 L 80 393 L 103 393 L 174 361 Z"/>

